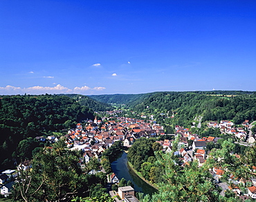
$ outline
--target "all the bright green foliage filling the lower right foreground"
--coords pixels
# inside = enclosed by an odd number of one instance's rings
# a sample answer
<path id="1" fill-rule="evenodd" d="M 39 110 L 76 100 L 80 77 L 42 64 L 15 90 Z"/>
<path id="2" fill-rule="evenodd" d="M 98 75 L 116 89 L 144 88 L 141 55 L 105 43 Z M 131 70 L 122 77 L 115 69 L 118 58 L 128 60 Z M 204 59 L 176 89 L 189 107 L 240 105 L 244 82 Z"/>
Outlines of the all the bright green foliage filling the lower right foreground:
<path id="1" fill-rule="evenodd" d="M 223 176 L 224 181 L 228 179 L 227 177 L 230 174 L 244 179 L 245 182 L 249 178 L 255 177 L 256 174 L 252 172 L 252 167 L 256 162 L 256 147 L 251 147 L 246 155 L 239 157 L 232 153 L 234 147 L 229 140 L 225 140 L 221 145 L 222 149 L 212 151 L 212 155 L 202 167 L 198 167 L 196 161 L 181 167 L 173 152 L 168 154 L 156 152 L 156 164 L 164 168 L 163 178 L 165 178 L 165 183 L 158 183 L 158 193 L 152 196 L 139 194 L 140 201 L 239 201 L 230 191 L 226 192 L 226 196 L 221 196 L 219 194 L 220 190 L 217 189 L 209 172 L 209 169 L 213 167 L 222 167 L 226 173 Z M 246 190 L 246 187 L 244 190 Z M 246 201 L 250 201 L 250 199 Z"/>

